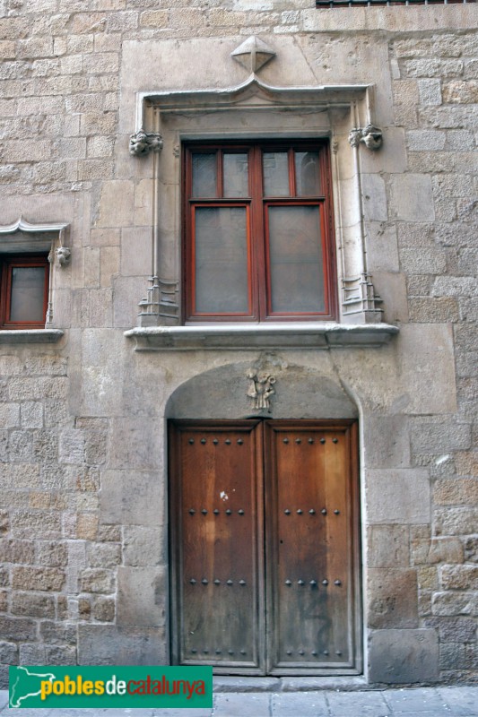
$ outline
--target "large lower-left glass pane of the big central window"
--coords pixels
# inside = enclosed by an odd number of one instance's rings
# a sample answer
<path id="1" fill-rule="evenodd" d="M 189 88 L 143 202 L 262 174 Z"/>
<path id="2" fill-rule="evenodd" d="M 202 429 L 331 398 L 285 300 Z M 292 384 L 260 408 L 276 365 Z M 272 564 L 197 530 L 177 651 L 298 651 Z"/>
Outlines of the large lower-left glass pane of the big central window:
<path id="1" fill-rule="evenodd" d="M 196 207 L 196 312 L 248 314 L 246 207 Z"/>

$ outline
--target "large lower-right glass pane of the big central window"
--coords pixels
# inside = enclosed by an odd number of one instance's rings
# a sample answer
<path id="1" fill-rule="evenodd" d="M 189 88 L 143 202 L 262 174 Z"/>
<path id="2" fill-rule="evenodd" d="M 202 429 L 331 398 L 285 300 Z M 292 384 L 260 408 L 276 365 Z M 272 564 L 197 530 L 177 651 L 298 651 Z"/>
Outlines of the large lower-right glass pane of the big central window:
<path id="1" fill-rule="evenodd" d="M 325 311 L 324 268 L 317 206 L 268 207 L 272 311 Z"/>

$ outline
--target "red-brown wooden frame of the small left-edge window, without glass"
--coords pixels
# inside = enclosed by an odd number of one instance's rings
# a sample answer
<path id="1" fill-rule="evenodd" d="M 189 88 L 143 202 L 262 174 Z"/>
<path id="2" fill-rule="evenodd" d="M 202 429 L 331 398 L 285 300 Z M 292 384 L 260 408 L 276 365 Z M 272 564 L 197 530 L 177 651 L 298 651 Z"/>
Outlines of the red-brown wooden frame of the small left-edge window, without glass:
<path id="1" fill-rule="evenodd" d="M 13 269 L 30 266 L 43 267 L 45 282 L 43 290 L 42 321 L 10 321 L 12 305 L 12 275 Z M 49 263 L 47 255 L 2 255 L 0 256 L 0 328 L 2 329 L 39 329 L 45 327 L 48 309 Z"/>

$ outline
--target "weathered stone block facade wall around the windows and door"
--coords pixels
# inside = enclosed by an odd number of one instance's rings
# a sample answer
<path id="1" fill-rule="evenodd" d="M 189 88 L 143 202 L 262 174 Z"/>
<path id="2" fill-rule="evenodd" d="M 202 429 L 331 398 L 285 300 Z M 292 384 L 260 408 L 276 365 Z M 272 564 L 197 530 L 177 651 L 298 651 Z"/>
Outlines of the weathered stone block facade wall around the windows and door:
<path id="1" fill-rule="evenodd" d="M 0 224 L 65 223 L 71 250 L 48 324 L 63 335 L 0 332 L 3 685 L 8 664 L 168 662 L 166 422 L 247 416 L 259 364 L 274 367 L 274 418 L 360 420 L 366 678 L 476 679 L 477 17 L 474 4 L 0 0 Z M 199 108 L 196 91 L 247 81 L 230 53 L 249 36 L 275 53 L 265 86 L 325 88 L 312 113 L 276 112 L 274 96 L 252 120 Z M 352 85 L 357 99 L 330 90 Z M 353 111 L 381 129 L 377 151 L 348 142 Z M 137 157 L 142 117 L 164 146 Z M 336 234 L 398 328 L 383 345 L 378 305 L 354 345 L 324 330 L 214 346 L 154 313 L 131 331 L 152 274 L 180 279 L 178 142 L 254 127 L 336 142 Z"/>

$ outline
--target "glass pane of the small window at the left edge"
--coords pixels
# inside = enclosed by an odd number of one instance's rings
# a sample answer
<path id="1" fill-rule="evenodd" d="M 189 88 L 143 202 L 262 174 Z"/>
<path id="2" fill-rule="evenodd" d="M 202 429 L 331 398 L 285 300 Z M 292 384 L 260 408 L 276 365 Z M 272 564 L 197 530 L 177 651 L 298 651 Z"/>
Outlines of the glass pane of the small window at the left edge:
<path id="1" fill-rule="evenodd" d="M 9 321 L 45 321 L 45 267 L 14 266 Z"/>

